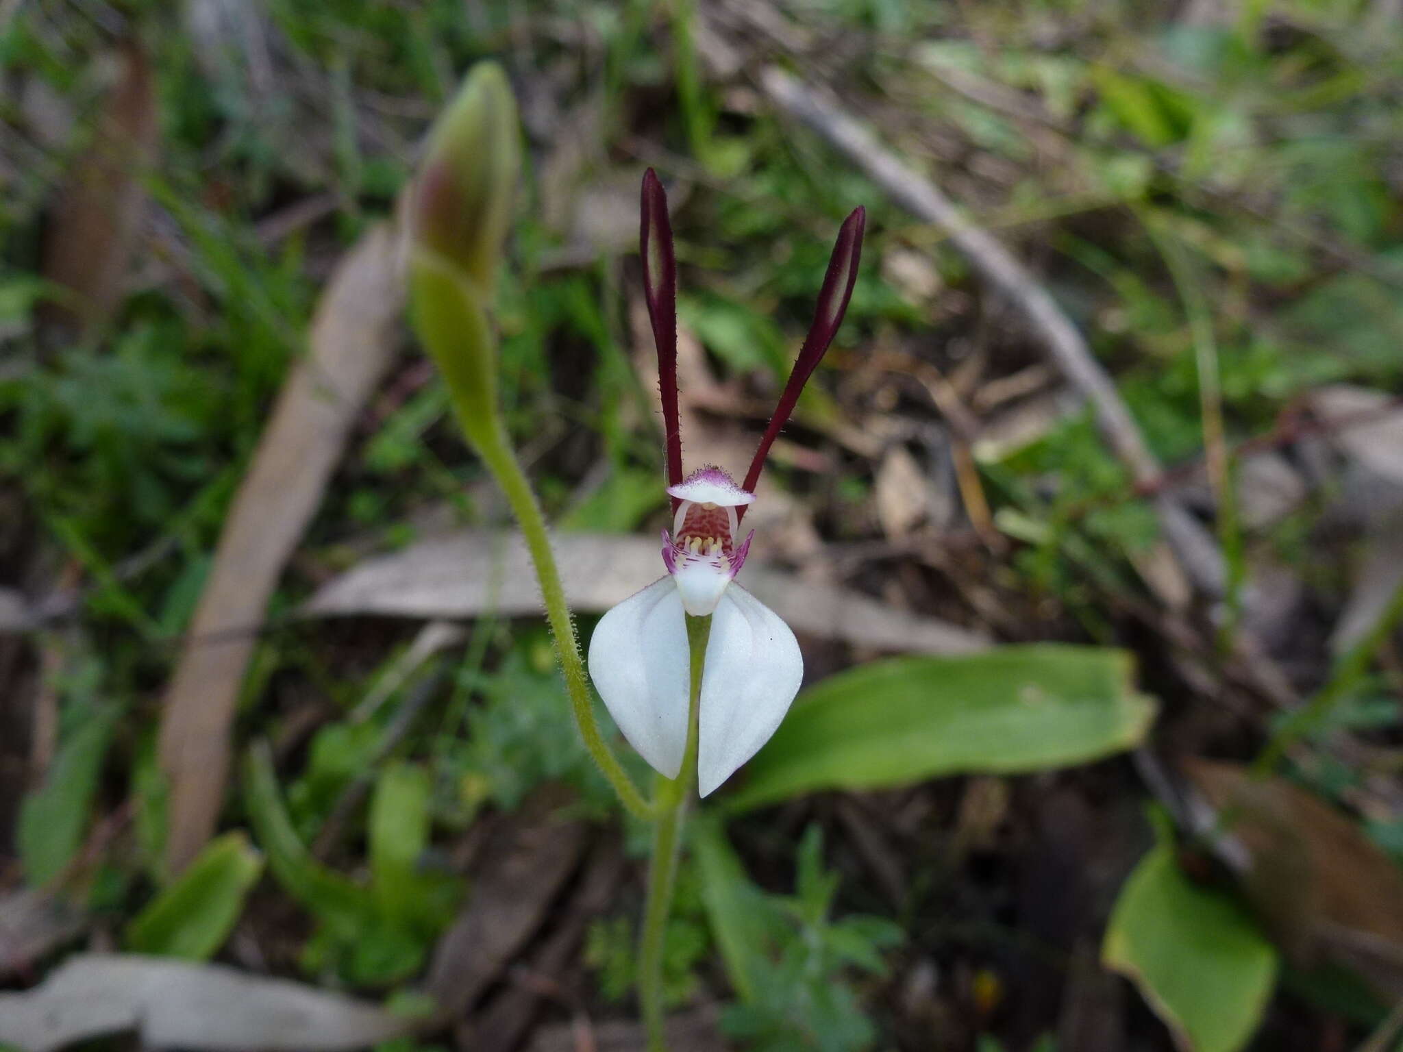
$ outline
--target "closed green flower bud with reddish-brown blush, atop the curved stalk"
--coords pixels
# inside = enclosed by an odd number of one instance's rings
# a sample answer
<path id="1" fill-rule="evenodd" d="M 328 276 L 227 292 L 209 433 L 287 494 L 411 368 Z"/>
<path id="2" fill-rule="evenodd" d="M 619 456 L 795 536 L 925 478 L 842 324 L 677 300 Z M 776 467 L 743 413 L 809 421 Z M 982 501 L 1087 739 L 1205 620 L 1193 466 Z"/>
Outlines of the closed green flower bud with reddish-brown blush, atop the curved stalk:
<path id="1" fill-rule="evenodd" d="M 460 269 L 490 296 L 521 171 L 516 100 L 495 62 L 480 62 L 429 135 L 414 188 L 415 250 Z"/>

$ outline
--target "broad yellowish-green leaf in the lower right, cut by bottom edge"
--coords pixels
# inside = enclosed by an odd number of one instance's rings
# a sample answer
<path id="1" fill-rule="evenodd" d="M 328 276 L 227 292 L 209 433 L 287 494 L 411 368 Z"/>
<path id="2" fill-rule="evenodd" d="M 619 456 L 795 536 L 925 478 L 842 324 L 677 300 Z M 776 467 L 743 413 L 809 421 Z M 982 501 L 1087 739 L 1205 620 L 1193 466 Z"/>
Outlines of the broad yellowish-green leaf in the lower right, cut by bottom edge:
<path id="1" fill-rule="evenodd" d="M 1101 961 L 1128 976 L 1186 1052 L 1235 1052 L 1271 997 L 1277 952 L 1226 893 L 1191 882 L 1162 843 L 1121 888 Z"/>

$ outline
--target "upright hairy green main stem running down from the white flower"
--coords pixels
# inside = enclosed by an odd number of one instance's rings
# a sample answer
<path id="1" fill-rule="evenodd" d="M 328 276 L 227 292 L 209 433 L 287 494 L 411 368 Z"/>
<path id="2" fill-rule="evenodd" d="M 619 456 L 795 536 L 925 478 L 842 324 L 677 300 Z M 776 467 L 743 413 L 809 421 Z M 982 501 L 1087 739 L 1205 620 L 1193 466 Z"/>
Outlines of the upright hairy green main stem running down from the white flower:
<path id="1" fill-rule="evenodd" d="M 687 743 L 678 777 L 658 776 L 657 825 L 652 828 L 652 864 L 648 868 L 648 903 L 643 913 L 638 940 L 638 1002 L 643 1025 L 648 1032 L 648 1052 L 665 1052 L 662 1011 L 662 943 L 672 908 L 672 885 L 678 875 L 678 847 L 687 801 L 697 777 L 697 731 L 702 713 L 702 665 L 711 637 L 711 617 L 687 616 L 687 649 L 692 655 L 692 689 L 687 696 Z"/>

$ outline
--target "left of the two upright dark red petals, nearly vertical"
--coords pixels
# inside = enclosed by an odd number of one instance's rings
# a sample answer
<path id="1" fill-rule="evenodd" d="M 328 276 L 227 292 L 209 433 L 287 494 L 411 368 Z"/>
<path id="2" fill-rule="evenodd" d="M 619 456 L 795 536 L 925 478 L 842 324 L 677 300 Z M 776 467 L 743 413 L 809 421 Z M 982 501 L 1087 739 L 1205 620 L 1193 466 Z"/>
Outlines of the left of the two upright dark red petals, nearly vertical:
<path id="1" fill-rule="evenodd" d="M 652 168 L 643 175 L 643 216 L 638 229 L 643 292 L 658 348 L 658 389 L 668 459 L 668 485 L 682 481 L 682 426 L 678 418 L 678 261 L 672 251 L 668 195 Z M 676 508 L 676 501 L 673 501 Z"/>

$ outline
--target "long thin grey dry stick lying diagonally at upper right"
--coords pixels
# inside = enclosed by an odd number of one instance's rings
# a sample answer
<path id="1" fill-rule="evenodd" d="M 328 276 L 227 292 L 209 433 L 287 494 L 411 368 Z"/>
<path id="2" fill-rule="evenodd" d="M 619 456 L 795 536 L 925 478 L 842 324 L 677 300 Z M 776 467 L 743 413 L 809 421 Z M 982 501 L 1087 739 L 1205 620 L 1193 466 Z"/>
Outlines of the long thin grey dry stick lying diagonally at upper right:
<path id="1" fill-rule="evenodd" d="M 1162 476 L 1159 461 L 1145 445 L 1115 384 L 1092 356 L 1072 320 L 1033 275 L 929 180 L 882 146 L 829 91 L 805 84 L 774 66 L 763 69 L 759 80 L 780 109 L 846 154 L 894 202 L 947 231 L 974 268 L 1023 311 L 1062 375 L 1092 403 L 1101 433 L 1129 468 L 1136 488 L 1156 491 Z M 1222 595 L 1223 560 L 1208 532 L 1169 494 L 1156 492 L 1155 513 L 1188 578 L 1202 592 Z"/>

